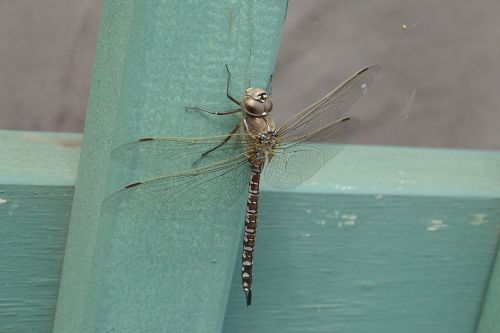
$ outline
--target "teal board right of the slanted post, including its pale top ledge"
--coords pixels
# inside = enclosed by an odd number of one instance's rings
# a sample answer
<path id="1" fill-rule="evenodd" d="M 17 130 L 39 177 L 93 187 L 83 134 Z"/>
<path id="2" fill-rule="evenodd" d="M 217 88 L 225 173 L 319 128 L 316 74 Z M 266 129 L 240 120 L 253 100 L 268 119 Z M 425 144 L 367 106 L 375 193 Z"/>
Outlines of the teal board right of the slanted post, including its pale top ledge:
<path id="1" fill-rule="evenodd" d="M 349 147 L 296 191 L 265 189 L 254 304 L 236 265 L 224 332 L 475 332 L 498 170 L 497 152 Z"/>

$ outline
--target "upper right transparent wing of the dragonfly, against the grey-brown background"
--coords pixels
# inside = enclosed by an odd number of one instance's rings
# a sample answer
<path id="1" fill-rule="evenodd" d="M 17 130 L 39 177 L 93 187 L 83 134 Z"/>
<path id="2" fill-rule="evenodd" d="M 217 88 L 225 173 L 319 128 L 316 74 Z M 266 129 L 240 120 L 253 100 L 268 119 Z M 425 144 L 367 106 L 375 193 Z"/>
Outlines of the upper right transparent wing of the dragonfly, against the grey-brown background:
<path id="1" fill-rule="evenodd" d="M 300 140 L 300 137 L 339 120 L 366 93 L 379 70 L 379 66 L 360 70 L 331 93 L 296 114 L 278 130 L 282 140 Z"/>

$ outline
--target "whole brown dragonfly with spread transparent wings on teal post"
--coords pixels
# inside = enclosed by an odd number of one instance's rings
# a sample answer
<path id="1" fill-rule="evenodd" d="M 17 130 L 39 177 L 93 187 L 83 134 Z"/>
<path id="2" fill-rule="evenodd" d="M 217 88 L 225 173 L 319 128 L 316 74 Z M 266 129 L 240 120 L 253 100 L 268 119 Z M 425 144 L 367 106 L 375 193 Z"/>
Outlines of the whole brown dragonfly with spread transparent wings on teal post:
<path id="1" fill-rule="evenodd" d="M 132 217 L 147 214 L 148 218 L 184 219 L 223 211 L 242 199 L 247 187 L 241 284 L 249 306 L 261 176 L 271 186 L 293 188 L 337 155 L 360 124 L 357 118 L 344 115 L 366 93 L 379 66 L 358 71 L 280 127 L 270 116 L 273 102 L 267 90 L 247 88 L 242 99 L 236 99 L 230 93 L 231 74 L 226 69 L 226 95 L 237 107 L 225 112 L 192 109 L 214 115 L 240 113 L 231 133 L 197 138 L 144 137 L 117 147 L 111 155 L 121 164 L 134 164 L 153 173 L 162 172 L 159 166 L 168 167 L 169 172 L 122 187 L 104 200 L 103 209 Z M 179 208 L 186 200 L 196 203 L 189 211 Z"/>

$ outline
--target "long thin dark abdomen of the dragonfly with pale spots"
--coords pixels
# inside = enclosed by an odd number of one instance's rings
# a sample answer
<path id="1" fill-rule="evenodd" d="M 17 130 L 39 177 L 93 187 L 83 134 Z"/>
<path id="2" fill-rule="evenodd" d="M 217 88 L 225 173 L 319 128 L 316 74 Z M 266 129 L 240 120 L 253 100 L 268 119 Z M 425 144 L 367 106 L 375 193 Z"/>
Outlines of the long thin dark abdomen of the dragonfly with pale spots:
<path id="1" fill-rule="evenodd" d="M 252 166 L 248 184 L 247 212 L 245 233 L 243 236 L 243 258 L 241 263 L 241 283 L 247 299 L 247 306 L 252 303 L 252 270 L 255 232 L 257 230 L 257 211 L 259 205 L 259 184 L 262 166 Z"/>

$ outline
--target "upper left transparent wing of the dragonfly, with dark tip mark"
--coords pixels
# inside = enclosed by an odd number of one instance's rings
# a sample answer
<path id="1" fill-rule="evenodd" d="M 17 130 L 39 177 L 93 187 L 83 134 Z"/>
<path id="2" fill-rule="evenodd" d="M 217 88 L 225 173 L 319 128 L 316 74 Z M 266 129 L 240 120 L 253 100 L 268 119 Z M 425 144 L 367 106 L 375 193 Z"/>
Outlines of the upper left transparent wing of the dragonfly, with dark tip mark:
<path id="1" fill-rule="evenodd" d="M 226 144 L 201 158 L 228 138 Z M 240 133 L 199 138 L 148 137 L 115 148 L 111 158 L 129 169 L 144 170 L 147 172 L 144 177 L 210 165 L 243 151 L 244 138 Z"/>

